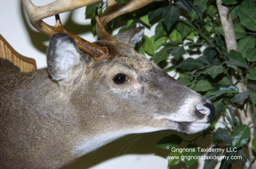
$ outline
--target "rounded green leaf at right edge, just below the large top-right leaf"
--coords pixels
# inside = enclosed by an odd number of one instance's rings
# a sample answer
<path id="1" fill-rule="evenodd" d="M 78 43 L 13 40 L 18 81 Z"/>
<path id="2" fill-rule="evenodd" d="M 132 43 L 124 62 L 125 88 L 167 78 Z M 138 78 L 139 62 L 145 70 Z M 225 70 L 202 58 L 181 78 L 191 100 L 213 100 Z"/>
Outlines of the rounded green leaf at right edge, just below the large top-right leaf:
<path id="1" fill-rule="evenodd" d="M 246 36 L 238 41 L 238 50 L 242 54 L 243 58 L 246 58 L 247 50 L 254 46 L 255 46 L 254 36 Z"/>

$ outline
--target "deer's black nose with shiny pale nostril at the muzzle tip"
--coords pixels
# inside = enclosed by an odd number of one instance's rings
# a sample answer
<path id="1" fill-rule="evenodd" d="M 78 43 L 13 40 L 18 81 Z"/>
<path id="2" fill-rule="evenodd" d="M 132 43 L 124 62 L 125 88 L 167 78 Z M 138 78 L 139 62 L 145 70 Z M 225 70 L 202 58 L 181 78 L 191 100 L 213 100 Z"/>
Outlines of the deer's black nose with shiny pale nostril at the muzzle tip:
<path id="1" fill-rule="evenodd" d="M 212 122 L 215 117 L 215 107 L 212 103 L 205 103 L 197 105 L 197 111 L 208 116 L 208 122 Z"/>

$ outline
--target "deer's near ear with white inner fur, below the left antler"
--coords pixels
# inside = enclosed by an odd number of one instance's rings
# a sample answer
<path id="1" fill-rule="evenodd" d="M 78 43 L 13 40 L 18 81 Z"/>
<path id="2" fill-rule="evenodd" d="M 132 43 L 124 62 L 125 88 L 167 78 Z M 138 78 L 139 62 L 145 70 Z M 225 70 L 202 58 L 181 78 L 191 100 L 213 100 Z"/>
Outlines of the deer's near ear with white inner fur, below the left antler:
<path id="1" fill-rule="evenodd" d="M 74 39 L 66 33 L 53 35 L 47 50 L 48 71 L 52 79 L 69 81 L 79 63 L 79 49 Z"/>

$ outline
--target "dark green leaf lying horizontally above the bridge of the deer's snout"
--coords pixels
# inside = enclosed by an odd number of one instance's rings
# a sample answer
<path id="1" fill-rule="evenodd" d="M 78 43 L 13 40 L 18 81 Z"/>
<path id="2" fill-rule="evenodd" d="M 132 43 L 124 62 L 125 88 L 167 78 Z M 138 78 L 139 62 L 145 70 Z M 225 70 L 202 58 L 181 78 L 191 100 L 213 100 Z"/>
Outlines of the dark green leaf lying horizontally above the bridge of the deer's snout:
<path id="1" fill-rule="evenodd" d="M 181 69 L 196 69 L 205 66 L 204 63 L 200 60 L 196 60 L 193 58 L 187 58 L 186 60 L 181 61 L 176 67 Z"/>

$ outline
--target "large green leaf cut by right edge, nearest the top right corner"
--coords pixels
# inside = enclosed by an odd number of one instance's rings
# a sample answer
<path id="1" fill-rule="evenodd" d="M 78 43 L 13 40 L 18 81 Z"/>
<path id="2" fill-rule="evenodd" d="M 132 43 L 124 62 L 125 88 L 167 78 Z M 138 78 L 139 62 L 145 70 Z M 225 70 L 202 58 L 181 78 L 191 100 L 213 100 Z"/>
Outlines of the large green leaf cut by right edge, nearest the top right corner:
<path id="1" fill-rule="evenodd" d="M 256 13 L 253 9 L 240 7 L 240 21 L 247 29 L 256 31 Z"/>

